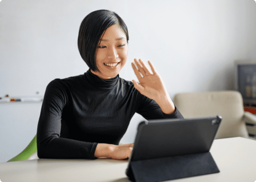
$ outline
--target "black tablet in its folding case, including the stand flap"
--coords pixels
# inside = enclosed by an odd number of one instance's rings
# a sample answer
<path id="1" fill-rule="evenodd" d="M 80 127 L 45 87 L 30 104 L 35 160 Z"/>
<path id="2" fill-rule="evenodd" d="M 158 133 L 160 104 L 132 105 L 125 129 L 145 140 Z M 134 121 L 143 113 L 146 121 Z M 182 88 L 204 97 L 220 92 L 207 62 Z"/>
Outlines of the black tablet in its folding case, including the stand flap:
<path id="1" fill-rule="evenodd" d="M 159 182 L 219 172 L 209 150 L 221 119 L 140 122 L 126 170 L 129 180 Z"/>

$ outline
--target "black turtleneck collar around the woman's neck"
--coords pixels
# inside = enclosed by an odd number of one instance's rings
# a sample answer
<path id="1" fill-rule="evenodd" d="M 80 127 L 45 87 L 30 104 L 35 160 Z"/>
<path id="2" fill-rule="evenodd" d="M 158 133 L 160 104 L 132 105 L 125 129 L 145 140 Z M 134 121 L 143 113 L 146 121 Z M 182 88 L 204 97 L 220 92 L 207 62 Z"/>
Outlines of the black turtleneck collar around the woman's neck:
<path id="1" fill-rule="evenodd" d="M 112 88 L 117 84 L 119 74 L 113 78 L 110 79 L 101 79 L 100 77 L 94 75 L 91 72 L 91 69 L 89 69 L 87 72 L 85 72 L 86 79 L 97 88 Z"/>

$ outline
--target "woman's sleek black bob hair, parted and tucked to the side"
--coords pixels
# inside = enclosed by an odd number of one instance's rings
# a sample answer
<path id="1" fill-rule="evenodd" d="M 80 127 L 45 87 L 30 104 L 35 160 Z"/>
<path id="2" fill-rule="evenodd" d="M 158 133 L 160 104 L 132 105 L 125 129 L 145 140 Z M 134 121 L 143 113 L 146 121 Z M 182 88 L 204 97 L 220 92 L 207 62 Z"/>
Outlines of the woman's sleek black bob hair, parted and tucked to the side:
<path id="1" fill-rule="evenodd" d="M 101 35 L 103 36 L 107 28 L 112 25 L 119 25 L 123 29 L 128 43 L 127 26 L 122 18 L 113 11 L 93 11 L 81 22 L 77 40 L 78 49 L 82 59 L 92 71 L 99 71 L 96 66 L 97 46 L 100 43 Z"/>

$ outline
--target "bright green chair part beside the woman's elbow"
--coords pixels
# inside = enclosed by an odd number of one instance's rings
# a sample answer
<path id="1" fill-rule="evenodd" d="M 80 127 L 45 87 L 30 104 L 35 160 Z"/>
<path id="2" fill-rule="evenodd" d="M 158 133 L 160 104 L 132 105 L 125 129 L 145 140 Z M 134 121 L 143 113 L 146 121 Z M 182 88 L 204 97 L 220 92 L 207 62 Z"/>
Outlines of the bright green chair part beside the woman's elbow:
<path id="1" fill-rule="evenodd" d="M 35 152 L 37 152 L 37 135 L 33 138 L 33 140 L 28 144 L 28 146 L 20 154 L 13 157 L 7 162 L 27 160 Z"/>

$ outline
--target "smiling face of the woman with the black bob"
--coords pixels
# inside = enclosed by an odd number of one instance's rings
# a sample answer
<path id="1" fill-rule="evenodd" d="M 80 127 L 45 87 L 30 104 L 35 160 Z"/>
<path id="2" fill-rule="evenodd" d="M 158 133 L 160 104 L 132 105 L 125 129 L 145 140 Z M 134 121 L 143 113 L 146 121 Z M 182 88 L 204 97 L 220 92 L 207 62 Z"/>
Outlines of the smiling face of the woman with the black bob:
<path id="1" fill-rule="evenodd" d="M 118 75 L 127 61 L 128 45 L 126 35 L 119 25 L 107 28 L 96 51 L 96 66 L 99 71 L 93 74 L 102 79 L 110 79 Z"/>

